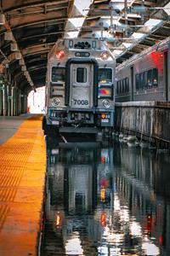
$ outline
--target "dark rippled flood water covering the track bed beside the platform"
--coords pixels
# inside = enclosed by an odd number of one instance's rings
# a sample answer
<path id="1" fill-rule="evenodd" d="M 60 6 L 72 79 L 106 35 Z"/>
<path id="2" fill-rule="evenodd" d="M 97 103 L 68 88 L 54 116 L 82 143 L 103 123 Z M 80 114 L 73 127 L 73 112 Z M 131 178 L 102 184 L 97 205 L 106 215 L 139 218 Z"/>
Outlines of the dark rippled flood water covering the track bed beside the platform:
<path id="1" fill-rule="evenodd" d="M 170 255 L 170 155 L 48 144 L 42 256 Z"/>

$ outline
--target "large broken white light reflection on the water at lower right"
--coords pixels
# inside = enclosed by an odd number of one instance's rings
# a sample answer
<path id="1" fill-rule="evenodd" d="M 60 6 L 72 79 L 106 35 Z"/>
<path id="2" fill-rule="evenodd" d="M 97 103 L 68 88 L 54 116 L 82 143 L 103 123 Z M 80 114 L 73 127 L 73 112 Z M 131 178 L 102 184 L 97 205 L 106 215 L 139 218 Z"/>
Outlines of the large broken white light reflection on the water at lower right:
<path id="1" fill-rule="evenodd" d="M 132 216 L 130 216 L 129 210 L 127 206 L 121 205 L 121 201 L 119 200 L 118 195 L 114 196 L 114 214 L 119 216 L 120 218 L 120 223 L 122 225 L 122 232 L 124 230 L 124 226 L 126 227 L 126 223 L 129 224 L 129 230 L 131 236 L 139 237 L 142 242 L 142 249 L 144 250 L 144 255 L 152 255 L 152 256 L 158 256 L 159 254 L 159 248 L 156 247 L 148 238 L 146 237 L 143 239 L 143 234 L 142 234 L 142 227 L 139 222 L 136 221 L 136 219 Z M 122 234 L 120 232 L 116 233 L 116 230 L 113 230 L 113 225 L 110 222 L 106 223 L 103 235 L 102 235 L 102 244 L 98 247 L 98 252 L 99 254 L 103 255 L 125 255 L 121 253 L 122 245 L 123 245 L 123 239 L 125 236 L 126 230 Z M 109 251 L 108 251 L 109 250 Z M 126 249 L 125 249 L 126 251 Z M 134 249 L 133 254 L 131 256 L 137 256 L 135 252 L 136 250 Z"/>

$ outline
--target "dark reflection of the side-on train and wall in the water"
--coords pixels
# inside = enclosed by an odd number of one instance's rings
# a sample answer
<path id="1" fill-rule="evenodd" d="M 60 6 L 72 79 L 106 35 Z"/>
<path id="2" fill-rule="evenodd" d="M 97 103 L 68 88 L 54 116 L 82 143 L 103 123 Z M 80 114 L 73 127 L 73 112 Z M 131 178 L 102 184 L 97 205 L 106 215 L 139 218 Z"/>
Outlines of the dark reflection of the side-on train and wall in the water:
<path id="1" fill-rule="evenodd" d="M 116 172 L 115 176 L 120 200 L 141 224 L 150 244 L 153 246 L 154 242 L 161 247 L 160 254 L 151 255 L 170 255 L 169 158 L 163 154 L 156 158 L 153 152 L 125 145 L 120 149 L 122 171 Z"/>

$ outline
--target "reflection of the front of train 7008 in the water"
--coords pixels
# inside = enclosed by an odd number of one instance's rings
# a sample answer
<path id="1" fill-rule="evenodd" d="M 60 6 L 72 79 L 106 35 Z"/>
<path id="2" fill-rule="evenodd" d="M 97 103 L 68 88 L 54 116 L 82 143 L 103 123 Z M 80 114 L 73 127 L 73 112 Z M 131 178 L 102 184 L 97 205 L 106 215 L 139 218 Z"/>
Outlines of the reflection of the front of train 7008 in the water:
<path id="1" fill-rule="evenodd" d="M 94 241 L 101 239 L 109 212 L 101 208 L 96 214 L 96 208 L 111 203 L 110 164 L 111 152 L 106 148 L 48 150 L 45 229 L 51 225 L 59 237 L 55 246 L 62 253 L 68 253 L 76 241 L 76 255 L 98 255 Z M 48 235 L 44 237 L 45 250 L 49 240 Z"/>

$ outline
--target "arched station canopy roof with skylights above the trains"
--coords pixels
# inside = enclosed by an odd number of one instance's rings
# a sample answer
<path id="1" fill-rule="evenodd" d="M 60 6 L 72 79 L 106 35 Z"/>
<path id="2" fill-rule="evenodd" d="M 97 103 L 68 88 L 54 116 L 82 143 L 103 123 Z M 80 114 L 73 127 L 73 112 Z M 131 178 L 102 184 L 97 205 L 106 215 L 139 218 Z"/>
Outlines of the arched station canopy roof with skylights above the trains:
<path id="1" fill-rule="evenodd" d="M 59 38 L 105 40 L 118 65 L 170 36 L 166 0 L 1 0 L 0 8 L 0 73 L 25 93 L 45 85 Z"/>

